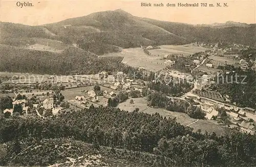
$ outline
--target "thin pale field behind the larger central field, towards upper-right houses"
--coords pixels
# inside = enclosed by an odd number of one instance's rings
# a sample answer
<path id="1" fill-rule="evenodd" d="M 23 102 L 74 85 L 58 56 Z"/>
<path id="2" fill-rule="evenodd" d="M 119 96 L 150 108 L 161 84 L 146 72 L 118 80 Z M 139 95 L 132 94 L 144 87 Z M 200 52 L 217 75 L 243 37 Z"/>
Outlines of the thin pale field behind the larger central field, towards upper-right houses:
<path id="1" fill-rule="evenodd" d="M 202 46 L 188 45 L 161 45 L 161 49 L 148 50 L 153 55 L 159 55 L 163 57 L 169 54 L 182 54 L 184 56 L 192 55 L 196 52 L 204 52 L 208 49 Z"/>

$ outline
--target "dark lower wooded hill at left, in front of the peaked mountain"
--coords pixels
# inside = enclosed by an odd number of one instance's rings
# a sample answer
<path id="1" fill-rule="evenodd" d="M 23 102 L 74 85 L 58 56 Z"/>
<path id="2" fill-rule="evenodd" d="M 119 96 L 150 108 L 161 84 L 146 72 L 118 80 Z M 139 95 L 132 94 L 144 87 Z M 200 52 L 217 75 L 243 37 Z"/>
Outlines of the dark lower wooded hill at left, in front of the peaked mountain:
<path id="1" fill-rule="evenodd" d="M 62 53 L 42 52 L 0 45 L 0 70 L 35 74 L 97 74 L 107 71 L 127 73 L 132 67 L 123 63 L 122 57 L 102 57 L 74 47 Z"/>

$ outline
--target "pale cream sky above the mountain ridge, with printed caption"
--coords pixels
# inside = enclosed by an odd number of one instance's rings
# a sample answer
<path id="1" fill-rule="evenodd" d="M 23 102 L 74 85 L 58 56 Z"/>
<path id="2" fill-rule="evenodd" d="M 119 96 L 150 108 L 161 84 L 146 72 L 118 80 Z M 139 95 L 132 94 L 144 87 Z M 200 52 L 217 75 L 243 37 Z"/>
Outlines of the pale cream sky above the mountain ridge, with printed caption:
<path id="1" fill-rule="evenodd" d="M 157 20 L 183 22 L 190 24 L 208 24 L 236 21 L 256 23 L 256 0 L 163 0 L 163 1 L 85 1 L 85 0 L 42 0 L 25 1 L 32 7 L 22 7 L 14 0 L 0 0 L 0 21 L 22 23 L 24 25 L 44 25 L 67 18 L 85 16 L 94 12 L 122 9 L 134 16 Z M 164 7 L 141 7 L 141 3 L 163 3 Z M 166 4 L 176 7 L 166 7 Z M 199 3 L 199 7 L 177 7 L 178 3 Z M 207 3 L 207 7 L 201 7 Z M 209 4 L 227 3 L 228 7 L 208 7 Z M 20 5 L 20 6 L 17 6 Z M 222 5 L 223 6 L 223 5 Z"/>

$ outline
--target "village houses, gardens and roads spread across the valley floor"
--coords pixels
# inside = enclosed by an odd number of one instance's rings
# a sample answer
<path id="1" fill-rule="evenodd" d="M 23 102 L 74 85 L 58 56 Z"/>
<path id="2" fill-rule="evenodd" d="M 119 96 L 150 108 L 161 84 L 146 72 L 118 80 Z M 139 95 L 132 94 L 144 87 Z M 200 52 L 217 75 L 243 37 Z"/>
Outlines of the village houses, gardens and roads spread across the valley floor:
<path id="1" fill-rule="evenodd" d="M 184 58 L 183 54 L 169 54 L 163 55 L 160 47 L 147 46 L 143 48 L 148 51 L 149 56 L 153 56 L 151 52 L 160 50 L 158 57 L 162 56 L 162 63 L 166 68 L 156 72 L 156 75 L 167 75 L 175 78 L 188 80 L 188 83 L 194 85 L 193 89 L 184 93 L 180 100 L 187 101 L 205 112 L 206 120 L 214 120 L 221 126 L 237 129 L 243 133 L 255 134 L 256 121 L 255 109 L 249 107 L 238 107 L 235 103 L 231 103 L 229 97 L 219 92 L 213 91 L 210 87 L 214 84 L 214 78 L 224 73 L 228 74 L 231 71 L 222 70 L 219 67 L 225 64 L 232 64 L 240 66 L 242 70 L 249 69 L 256 70 L 255 60 L 247 62 L 240 58 L 238 51 L 247 50 L 248 46 L 233 44 L 225 49 L 219 48 L 217 44 L 205 44 L 199 42 L 191 43 L 190 46 L 205 47 L 205 52 L 199 52 L 190 57 L 185 57 L 186 61 L 182 65 L 184 69 L 176 68 L 179 64 L 180 57 Z M 183 45 L 187 47 L 188 45 Z M 188 60 L 188 61 L 187 61 Z M 225 60 L 225 61 L 224 61 Z M 186 64 L 188 62 L 188 64 Z M 182 66 L 181 65 L 181 66 Z M 179 64 L 180 66 L 180 64 Z M 141 66 L 141 71 L 150 73 L 147 68 Z M 188 70 L 186 70 L 188 69 Z M 194 77 L 193 77 L 194 76 Z M 195 78 L 196 76 L 196 78 Z M 145 98 L 142 96 L 142 89 L 148 84 L 136 78 L 136 75 L 129 76 L 123 71 L 117 71 L 115 75 L 109 75 L 106 71 L 101 71 L 95 75 L 73 75 L 73 76 L 40 76 L 40 80 L 31 84 L 31 80 L 26 83 L 15 83 L 20 78 L 18 76 L 12 77 L 12 82 L 3 82 L 2 85 L 10 86 L 12 83 L 20 88 L 12 90 L 5 90 L 6 92 L 14 93 L 12 96 L 12 108 L 6 108 L 3 112 L 6 117 L 10 117 L 15 112 L 20 115 L 37 115 L 39 117 L 58 115 L 59 113 L 67 112 L 70 109 L 84 109 L 94 106 L 109 106 L 110 101 L 120 96 L 121 93 L 126 93 L 130 103 L 136 108 L 135 98 Z M 39 82 L 38 82 L 39 81 Z M 53 83 L 56 89 L 38 90 L 38 84 L 49 86 Z M 44 88 L 43 88 L 44 89 Z M 136 94 L 136 96 L 132 95 Z M 16 98 L 15 98 L 16 97 Z M 19 97 L 19 98 L 17 98 Z M 22 98 L 20 98 L 22 97 Z M 63 97 L 63 98 L 59 98 Z M 177 97 L 170 97 L 177 99 Z M 33 99 L 33 102 L 31 102 Z M 156 110 L 157 112 L 157 110 Z M 196 124 L 193 123 L 193 124 Z"/>

